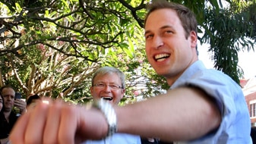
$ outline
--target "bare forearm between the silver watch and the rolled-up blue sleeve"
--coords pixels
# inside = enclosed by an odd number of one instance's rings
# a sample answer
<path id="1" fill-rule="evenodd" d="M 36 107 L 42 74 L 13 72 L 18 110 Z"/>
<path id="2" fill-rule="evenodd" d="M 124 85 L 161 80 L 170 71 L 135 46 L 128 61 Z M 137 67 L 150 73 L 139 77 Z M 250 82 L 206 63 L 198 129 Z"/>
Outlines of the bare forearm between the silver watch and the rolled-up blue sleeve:
<path id="1" fill-rule="evenodd" d="M 220 125 L 220 110 L 201 89 L 169 90 L 144 102 L 117 108 L 118 131 L 166 141 L 195 139 Z"/>

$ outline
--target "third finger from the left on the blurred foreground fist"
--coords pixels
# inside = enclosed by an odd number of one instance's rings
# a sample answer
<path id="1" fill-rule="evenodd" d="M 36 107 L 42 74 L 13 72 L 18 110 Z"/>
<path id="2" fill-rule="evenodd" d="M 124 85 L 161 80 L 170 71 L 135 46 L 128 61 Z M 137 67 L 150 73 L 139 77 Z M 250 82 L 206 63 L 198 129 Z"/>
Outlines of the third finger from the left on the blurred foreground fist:
<path id="1" fill-rule="evenodd" d="M 49 108 L 46 127 L 43 133 L 43 143 L 58 143 L 58 126 L 61 119 L 61 106 L 61 103 L 54 102 L 54 104 Z"/>

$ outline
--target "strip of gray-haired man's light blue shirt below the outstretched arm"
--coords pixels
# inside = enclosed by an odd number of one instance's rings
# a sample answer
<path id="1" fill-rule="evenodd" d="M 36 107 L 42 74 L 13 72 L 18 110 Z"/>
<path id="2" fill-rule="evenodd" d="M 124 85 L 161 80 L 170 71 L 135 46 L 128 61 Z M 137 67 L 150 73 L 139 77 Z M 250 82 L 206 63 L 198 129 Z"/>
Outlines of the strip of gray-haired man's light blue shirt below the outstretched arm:
<path id="1" fill-rule="evenodd" d="M 115 133 L 102 140 L 87 140 L 82 144 L 141 144 L 141 137 L 126 133 Z"/>

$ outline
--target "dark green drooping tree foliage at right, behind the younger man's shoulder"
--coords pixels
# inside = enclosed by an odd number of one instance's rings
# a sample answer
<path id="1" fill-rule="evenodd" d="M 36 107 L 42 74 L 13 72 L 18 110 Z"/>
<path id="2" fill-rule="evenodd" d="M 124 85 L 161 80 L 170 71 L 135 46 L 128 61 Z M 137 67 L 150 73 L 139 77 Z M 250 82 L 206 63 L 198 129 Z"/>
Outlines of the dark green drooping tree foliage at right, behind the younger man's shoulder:
<path id="1" fill-rule="evenodd" d="M 255 2 L 233 1 L 229 9 L 221 9 L 219 13 L 210 8 L 205 11 L 203 27 L 207 33 L 201 40 L 210 43 L 214 67 L 237 83 L 243 75 L 238 65 L 238 52 L 254 50 L 255 7 Z"/>

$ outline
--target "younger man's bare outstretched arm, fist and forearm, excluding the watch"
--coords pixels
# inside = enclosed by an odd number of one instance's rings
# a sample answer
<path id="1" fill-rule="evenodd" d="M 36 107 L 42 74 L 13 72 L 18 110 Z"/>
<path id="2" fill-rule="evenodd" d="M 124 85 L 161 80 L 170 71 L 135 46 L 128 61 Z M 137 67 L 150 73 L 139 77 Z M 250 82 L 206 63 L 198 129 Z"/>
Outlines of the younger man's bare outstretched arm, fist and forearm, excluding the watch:
<path id="1" fill-rule="evenodd" d="M 179 88 L 145 102 L 115 107 L 118 132 L 166 141 L 194 139 L 220 125 L 220 111 L 197 88 Z M 108 130 L 104 114 L 96 108 L 64 102 L 40 103 L 23 114 L 11 143 L 79 143 L 102 139 Z"/>

